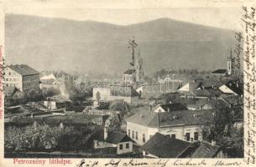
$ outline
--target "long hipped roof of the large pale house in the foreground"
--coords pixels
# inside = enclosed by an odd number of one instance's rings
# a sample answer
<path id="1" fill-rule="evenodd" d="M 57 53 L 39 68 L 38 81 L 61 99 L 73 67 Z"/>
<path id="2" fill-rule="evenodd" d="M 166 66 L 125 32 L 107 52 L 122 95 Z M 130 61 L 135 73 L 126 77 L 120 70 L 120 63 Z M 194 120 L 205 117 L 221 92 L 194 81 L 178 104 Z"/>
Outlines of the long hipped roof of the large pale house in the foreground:
<path id="1" fill-rule="evenodd" d="M 143 108 L 144 109 L 144 108 Z M 180 126 L 180 125 L 196 125 L 201 124 L 201 115 L 209 113 L 209 119 L 214 112 L 212 109 L 207 110 L 180 110 L 165 113 L 156 113 L 144 109 L 129 117 L 127 122 L 133 124 L 140 124 L 151 128 L 165 127 L 165 126 Z"/>

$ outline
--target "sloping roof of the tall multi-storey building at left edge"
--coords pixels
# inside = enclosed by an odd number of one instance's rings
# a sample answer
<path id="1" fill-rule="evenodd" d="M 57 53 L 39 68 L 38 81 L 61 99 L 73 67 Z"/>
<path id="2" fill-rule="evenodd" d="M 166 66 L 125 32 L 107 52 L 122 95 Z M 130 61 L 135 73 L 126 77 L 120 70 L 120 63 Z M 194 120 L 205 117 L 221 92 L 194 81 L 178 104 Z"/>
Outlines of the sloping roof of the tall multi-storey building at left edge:
<path id="1" fill-rule="evenodd" d="M 23 76 L 39 74 L 38 71 L 36 71 L 34 68 L 30 68 L 26 64 L 10 65 L 10 66 L 8 66 L 8 68 L 13 69 L 13 71 L 15 71 L 16 73 L 19 73 L 19 74 L 21 74 Z"/>

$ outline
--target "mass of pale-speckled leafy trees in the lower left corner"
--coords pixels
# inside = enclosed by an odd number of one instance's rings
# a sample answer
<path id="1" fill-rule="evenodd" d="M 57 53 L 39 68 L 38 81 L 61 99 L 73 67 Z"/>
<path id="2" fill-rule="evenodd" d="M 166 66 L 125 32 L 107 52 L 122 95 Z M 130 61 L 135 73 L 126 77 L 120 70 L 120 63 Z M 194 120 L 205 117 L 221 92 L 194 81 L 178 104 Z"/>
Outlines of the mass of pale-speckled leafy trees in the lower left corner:
<path id="1" fill-rule="evenodd" d="M 60 129 L 36 123 L 25 128 L 11 126 L 4 131 L 4 146 L 17 151 L 55 149 L 60 135 L 71 131 L 72 128 Z"/>

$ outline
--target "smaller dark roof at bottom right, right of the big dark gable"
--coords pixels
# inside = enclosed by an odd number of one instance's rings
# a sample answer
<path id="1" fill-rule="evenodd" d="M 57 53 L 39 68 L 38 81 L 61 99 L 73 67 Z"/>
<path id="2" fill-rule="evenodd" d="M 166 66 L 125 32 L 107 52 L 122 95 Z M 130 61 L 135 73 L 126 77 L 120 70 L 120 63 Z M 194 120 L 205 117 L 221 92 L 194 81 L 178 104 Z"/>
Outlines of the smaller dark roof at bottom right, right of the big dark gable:
<path id="1" fill-rule="evenodd" d="M 192 154 L 191 158 L 213 158 L 220 151 L 221 147 L 218 145 L 212 145 L 206 141 L 201 141 L 201 145 Z"/>

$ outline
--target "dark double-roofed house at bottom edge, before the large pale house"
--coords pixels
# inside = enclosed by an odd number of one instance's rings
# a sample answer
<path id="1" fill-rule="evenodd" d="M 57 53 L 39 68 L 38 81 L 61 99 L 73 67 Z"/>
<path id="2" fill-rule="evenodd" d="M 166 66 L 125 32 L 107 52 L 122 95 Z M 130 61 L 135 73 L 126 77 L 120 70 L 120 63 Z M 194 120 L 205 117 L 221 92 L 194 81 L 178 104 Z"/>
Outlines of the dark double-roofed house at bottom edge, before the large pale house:
<path id="1" fill-rule="evenodd" d="M 148 158 L 227 158 L 222 148 L 205 140 L 189 143 L 180 139 L 156 133 L 142 147 Z"/>

